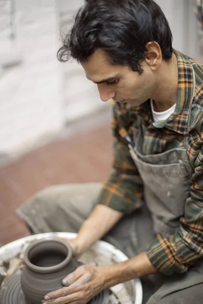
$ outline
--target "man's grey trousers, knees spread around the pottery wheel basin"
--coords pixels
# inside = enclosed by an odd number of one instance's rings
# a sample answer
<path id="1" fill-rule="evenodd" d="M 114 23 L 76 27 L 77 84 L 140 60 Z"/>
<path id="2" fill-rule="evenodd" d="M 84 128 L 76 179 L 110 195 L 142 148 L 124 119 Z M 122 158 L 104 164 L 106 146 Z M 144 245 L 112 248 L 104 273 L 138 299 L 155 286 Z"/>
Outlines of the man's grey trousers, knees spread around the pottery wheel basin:
<path id="1" fill-rule="evenodd" d="M 17 213 L 32 233 L 77 233 L 95 206 L 100 183 L 52 186 L 39 192 L 22 205 Z M 102 219 L 101 219 L 102 220 Z M 147 250 L 155 234 L 146 207 L 124 216 L 103 238 L 129 258 Z M 143 303 L 203 303 L 203 261 L 186 274 L 166 277 L 161 274 L 142 278 Z"/>

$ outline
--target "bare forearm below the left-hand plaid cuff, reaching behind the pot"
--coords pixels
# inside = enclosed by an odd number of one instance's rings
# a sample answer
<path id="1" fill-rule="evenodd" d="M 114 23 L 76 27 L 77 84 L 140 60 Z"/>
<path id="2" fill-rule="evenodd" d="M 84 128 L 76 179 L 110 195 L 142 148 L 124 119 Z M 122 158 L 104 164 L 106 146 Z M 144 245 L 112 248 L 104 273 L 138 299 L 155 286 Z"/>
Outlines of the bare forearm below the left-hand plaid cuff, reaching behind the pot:
<path id="1" fill-rule="evenodd" d="M 105 205 L 96 205 L 78 233 L 77 251 L 79 253 L 85 251 L 91 244 L 106 235 L 122 216 L 123 213 Z"/>

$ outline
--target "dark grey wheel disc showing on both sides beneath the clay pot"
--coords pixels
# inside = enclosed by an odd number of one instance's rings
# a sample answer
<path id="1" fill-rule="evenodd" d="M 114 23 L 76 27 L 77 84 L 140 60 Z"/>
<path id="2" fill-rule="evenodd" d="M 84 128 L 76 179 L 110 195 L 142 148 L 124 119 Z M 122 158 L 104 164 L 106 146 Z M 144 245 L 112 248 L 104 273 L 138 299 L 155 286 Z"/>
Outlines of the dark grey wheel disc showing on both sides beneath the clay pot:
<path id="1" fill-rule="evenodd" d="M 25 300 L 20 285 L 21 271 L 17 271 L 11 276 L 4 286 L 0 289 L 0 303 L 2 304 L 31 304 L 30 301 Z M 89 304 L 108 304 L 109 303 L 109 290 L 101 291 L 96 295 Z"/>

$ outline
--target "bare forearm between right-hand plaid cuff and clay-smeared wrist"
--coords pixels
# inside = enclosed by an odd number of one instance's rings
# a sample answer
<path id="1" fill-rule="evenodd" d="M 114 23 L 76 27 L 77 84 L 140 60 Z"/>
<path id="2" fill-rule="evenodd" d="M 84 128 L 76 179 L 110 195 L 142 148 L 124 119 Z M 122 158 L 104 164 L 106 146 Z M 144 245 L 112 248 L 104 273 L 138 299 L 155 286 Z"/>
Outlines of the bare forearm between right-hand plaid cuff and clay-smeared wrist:
<path id="1" fill-rule="evenodd" d="M 103 268 L 105 288 L 158 272 L 151 264 L 146 253 L 141 253 L 124 262 L 104 266 Z"/>

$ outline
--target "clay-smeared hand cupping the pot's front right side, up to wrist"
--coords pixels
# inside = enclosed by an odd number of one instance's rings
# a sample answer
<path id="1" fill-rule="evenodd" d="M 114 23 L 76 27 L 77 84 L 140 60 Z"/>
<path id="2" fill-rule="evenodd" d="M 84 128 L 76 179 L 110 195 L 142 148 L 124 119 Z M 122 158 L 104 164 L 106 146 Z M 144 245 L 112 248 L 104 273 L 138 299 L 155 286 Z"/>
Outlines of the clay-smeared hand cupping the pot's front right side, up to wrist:
<path id="1" fill-rule="evenodd" d="M 106 268 L 102 266 L 80 266 L 63 279 L 64 287 L 45 296 L 45 303 L 86 304 L 105 289 L 105 274 Z"/>

